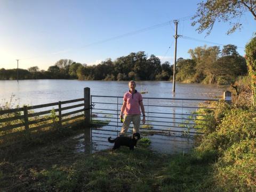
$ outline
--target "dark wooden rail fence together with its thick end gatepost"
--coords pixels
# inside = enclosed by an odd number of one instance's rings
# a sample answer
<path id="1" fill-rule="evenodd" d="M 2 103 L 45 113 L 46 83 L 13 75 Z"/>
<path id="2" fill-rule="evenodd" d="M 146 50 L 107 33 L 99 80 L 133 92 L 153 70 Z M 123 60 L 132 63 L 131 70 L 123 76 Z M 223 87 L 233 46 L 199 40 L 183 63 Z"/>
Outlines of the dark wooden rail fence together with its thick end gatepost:
<path id="1" fill-rule="evenodd" d="M 81 101 L 83 102 L 81 103 Z M 72 104 L 70 105 L 70 103 Z M 49 109 L 50 107 L 53 108 Z M 81 109 L 81 107 L 83 108 Z M 38 111 L 42 108 L 48 109 Z M 65 110 L 68 112 L 65 113 Z M 82 122 L 85 125 L 90 124 L 89 87 L 84 88 L 84 98 L 81 99 L 0 110 L 0 140 L 9 136 L 30 135 L 30 133 L 43 129 L 49 130 L 53 127 L 61 129 Z"/>

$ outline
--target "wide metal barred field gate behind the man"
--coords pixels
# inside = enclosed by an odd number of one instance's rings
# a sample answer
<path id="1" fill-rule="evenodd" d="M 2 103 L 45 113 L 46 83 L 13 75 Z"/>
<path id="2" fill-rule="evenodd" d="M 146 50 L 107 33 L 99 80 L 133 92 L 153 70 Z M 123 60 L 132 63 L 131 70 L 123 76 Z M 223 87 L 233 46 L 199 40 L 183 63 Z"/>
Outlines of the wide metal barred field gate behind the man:
<path id="1" fill-rule="evenodd" d="M 91 95 L 91 122 L 95 126 L 106 125 L 111 130 L 121 130 L 119 114 L 123 97 L 107 95 Z M 182 99 L 182 98 L 149 98 L 143 97 L 146 113 L 146 124 L 140 125 L 141 131 L 172 132 L 174 134 L 203 134 L 200 130 L 204 126 L 206 117 L 198 113 L 201 109 L 214 109 L 209 101 L 219 99 Z M 200 103 L 204 103 L 201 105 Z M 195 113 L 196 112 L 196 113 Z M 198 121 L 195 123 L 195 121 Z M 202 123 L 200 123 L 202 122 Z M 112 128 L 111 128 L 112 127 Z M 132 128 L 132 127 L 130 127 Z"/>

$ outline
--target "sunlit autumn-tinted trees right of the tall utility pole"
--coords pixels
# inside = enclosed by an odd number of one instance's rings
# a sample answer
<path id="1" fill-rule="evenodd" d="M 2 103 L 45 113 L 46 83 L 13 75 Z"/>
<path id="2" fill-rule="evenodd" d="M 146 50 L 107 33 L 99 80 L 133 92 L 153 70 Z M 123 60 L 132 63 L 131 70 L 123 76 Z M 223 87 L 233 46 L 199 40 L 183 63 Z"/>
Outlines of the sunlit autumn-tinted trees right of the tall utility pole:
<path id="1" fill-rule="evenodd" d="M 177 81 L 193 83 L 229 84 L 238 76 L 247 74 L 245 58 L 239 55 L 235 45 L 201 46 L 188 53 L 191 59 L 179 58 L 177 61 Z"/>

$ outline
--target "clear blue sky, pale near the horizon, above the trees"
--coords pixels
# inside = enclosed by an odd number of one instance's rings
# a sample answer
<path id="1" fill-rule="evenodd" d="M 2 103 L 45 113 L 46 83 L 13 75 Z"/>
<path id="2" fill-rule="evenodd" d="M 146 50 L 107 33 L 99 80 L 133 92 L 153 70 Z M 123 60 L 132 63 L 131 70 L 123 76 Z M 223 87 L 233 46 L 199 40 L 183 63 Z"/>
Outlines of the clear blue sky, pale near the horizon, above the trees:
<path id="1" fill-rule="evenodd" d="M 239 54 L 256 32 L 247 12 L 242 30 L 227 35 L 229 23 L 215 23 L 209 36 L 191 26 L 197 0 L 0 0 L 0 68 L 47 70 L 60 59 L 87 65 L 145 51 L 173 63 L 173 20 L 179 19 L 177 58 L 197 46 L 234 44 Z M 195 39 L 203 41 L 195 41 Z M 217 44 L 214 44 L 217 43 Z M 219 45 L 222 44 L 222 45 Z M 170 47 L 170 48 L 169 48 Z"/>

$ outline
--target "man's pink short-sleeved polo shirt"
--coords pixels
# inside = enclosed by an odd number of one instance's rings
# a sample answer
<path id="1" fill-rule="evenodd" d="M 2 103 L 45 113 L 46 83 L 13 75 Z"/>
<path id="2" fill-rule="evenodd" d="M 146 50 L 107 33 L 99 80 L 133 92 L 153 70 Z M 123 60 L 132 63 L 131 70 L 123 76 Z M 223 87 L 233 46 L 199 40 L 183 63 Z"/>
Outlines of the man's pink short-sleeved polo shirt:
<path id="1" fill-rule="evenodd" d="M 126 92 L 124 94 L 124 101 L 126 101 L 125 115 L 140 115 L 140 101 L 142 101 L 142 96 L 137 90 L 133 94 L 130 91 Z"/>

